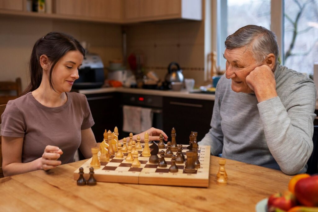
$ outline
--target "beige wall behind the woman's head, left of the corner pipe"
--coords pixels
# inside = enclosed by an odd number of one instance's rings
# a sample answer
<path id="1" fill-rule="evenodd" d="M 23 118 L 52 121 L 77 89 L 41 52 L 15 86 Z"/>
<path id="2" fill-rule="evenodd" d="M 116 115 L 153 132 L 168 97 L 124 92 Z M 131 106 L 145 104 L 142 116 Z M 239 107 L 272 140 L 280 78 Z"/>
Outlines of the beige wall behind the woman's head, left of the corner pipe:
<path id="1" fill-rule="evenodd" d="M 33 17 L 0 16 L 0 80 L 22 79 L 22 89 L 30 82 L 28 63 L 34 43 L 50 31 L 74 36 L 90 44 L 104 63 L 122 57 L 121 26 Z"/>

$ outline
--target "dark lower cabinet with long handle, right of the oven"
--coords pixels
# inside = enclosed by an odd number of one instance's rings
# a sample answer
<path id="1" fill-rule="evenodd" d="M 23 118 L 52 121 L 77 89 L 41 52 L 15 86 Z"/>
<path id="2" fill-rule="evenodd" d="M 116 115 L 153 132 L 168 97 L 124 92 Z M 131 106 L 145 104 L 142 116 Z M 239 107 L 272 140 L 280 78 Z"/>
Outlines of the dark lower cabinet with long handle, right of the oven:
<path id="1" fill-rule="evenodd" d="M 163 98 L 163 131 L 171 140 L 176 129 L 177 144 L 189 144 L 191 131 L 198 132 L 197 141 L 209 131 L 214 101 L 202 99 Z"/>

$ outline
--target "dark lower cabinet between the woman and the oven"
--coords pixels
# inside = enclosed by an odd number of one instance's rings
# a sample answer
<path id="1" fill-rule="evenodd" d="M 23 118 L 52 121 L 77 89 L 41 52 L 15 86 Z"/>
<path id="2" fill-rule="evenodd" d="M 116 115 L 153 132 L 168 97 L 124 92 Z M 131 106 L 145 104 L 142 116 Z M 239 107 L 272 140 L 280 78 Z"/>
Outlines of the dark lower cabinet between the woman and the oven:
<path id="1" fill-rule="evenodd" d="M 118 93 L 87 94 L 86 98 L 92 112 L 95 124 L 92 127 L 97 142 L 102 142 L 105 129 L 114 131 L 114 127 L 121 129 L 122 120 L 118 117 Z"/>

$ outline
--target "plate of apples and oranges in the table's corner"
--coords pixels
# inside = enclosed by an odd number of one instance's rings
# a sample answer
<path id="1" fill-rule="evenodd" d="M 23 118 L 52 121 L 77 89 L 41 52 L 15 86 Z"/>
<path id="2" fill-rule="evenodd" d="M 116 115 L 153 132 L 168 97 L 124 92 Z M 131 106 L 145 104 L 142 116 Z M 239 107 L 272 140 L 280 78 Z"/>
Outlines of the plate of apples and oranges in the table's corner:
<path id="1" fill-rule="evenodd" d="M 256 211 L 318 212 L 318 174 L 295 175 L 288 183 L 288 190 L 260 201 Z"/>

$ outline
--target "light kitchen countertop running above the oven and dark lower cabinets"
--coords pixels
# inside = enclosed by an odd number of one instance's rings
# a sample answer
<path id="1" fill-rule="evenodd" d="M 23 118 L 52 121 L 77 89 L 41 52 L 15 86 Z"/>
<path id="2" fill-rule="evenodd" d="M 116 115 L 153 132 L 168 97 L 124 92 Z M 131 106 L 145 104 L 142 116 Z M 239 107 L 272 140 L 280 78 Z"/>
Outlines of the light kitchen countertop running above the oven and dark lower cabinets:
<path id="1" fill-rule="evenodd" d="M 169 96 L 187 99 L 203 99 L 203 100 L 215 100 L 214 94 L 206 93 L 190 93 L 186 90 L 181 91 L 161 91 L 161 90 L 150 90 L 150 89 L 139 89 L 139 88 L 97 88 L 97 89 L 83 89 L 77 90 L 77 92 L 82 94 L 94 94 L 94 93 L 109 93 L 109 92 L 125 92 L 125 93 L 138 93 L 145 95 L 156 95 L 156 96 Z M 316 110 L 318 110 L 318 100 L 316 100 Z"/>

